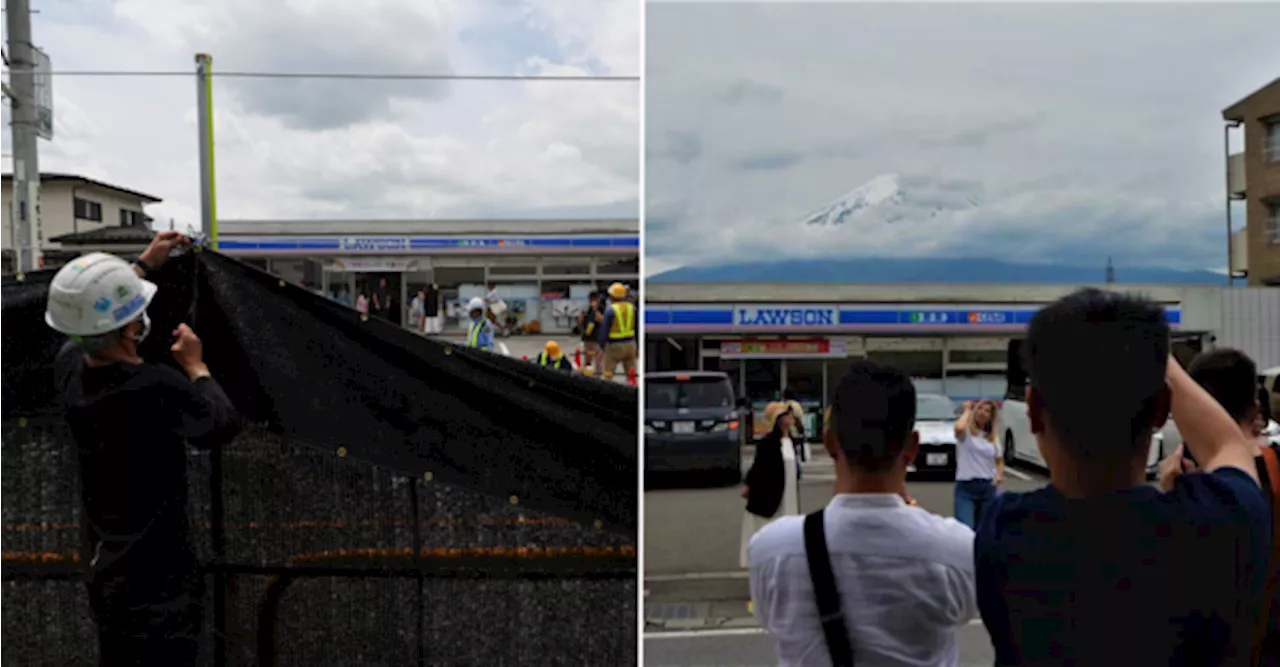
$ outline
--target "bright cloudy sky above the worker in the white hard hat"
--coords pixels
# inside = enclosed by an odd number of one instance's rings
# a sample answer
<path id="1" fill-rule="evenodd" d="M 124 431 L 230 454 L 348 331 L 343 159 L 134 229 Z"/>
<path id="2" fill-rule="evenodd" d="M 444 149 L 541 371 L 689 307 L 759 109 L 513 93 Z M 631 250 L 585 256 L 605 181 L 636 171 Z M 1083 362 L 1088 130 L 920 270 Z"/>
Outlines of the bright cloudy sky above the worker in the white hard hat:
<path id="1" fill-rule="evenodd" d="M 640 73 L 635 0 L 32 0 L 54 70 Z M 55 78 L 41 169 L 198 225 L 192 78 Z M 214 83 L 223 219 L 637 215 L 637 82 Z M 4 111 L 8 125 L 8 109 Z M 9 133 L 3 168 L 12 169 Z"/>

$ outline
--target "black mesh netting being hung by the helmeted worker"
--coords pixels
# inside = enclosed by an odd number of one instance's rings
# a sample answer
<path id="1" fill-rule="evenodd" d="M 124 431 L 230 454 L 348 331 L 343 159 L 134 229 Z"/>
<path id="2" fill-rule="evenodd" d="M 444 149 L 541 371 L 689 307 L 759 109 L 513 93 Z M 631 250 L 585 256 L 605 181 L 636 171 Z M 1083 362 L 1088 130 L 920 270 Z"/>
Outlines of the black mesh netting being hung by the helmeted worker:
<path id="1" fill-rule="evenodd" d="M 51 277 L 0 278 L 4 666 L 96 661 Z M 156 283 L 142 356 L 192 324 L 250 422 L 188 453 L 202 663 L 636 662 L 634 388 L 425 339 L 209 251 Z"/>

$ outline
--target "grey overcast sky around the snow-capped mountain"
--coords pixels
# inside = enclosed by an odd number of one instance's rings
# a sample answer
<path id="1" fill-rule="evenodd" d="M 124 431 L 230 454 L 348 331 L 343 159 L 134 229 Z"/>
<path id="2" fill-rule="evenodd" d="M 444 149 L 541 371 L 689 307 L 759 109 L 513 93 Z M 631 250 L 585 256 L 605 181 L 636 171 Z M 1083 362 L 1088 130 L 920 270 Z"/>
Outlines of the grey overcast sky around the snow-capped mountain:
<path id="1" fill-rule="evenodd" d="M 1276 4 L 648 6 L 650 274 L 851 255 L 1220 269 L 1221 110 L 1280 76 Z M 904 204 L 803 224 L 884 174 Z"/>

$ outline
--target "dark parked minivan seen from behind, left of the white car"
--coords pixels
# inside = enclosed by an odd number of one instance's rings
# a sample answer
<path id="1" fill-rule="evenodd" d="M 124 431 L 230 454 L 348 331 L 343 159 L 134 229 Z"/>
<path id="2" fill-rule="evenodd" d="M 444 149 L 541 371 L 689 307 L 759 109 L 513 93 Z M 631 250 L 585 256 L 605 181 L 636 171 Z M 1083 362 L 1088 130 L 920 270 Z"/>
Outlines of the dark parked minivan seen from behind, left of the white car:
<path id="1" fill-rule="evenodd" d="M 645 474 L 709 472 L 724 484 L 742 479 L 742 403 L 728 375 L 714 371 L 646 373 Z"/>

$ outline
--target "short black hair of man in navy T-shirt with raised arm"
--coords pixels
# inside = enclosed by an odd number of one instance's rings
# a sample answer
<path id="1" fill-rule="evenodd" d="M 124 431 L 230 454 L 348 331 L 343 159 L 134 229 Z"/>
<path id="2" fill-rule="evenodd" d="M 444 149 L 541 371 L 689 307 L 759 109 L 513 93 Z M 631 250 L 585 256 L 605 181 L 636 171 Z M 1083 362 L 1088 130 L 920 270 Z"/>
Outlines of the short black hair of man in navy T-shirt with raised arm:
<path id="1" fill-rule="evenodd" d="M 1123 461 L 1149 447 L 1169 362 L 1160 305 L 1079 289 L 1032 316 L 1023 352 L 1041 408 L 1075 458 Z"/>

